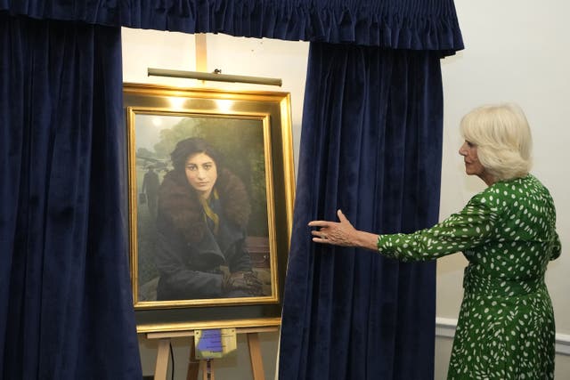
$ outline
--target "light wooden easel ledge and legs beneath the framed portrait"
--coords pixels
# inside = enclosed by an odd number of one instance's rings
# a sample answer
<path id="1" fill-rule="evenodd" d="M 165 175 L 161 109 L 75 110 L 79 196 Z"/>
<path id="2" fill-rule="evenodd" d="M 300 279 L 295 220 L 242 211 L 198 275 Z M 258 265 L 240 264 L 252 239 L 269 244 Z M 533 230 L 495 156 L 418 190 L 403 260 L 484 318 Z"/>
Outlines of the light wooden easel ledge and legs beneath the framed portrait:
<path id="1" fill-rule="evenodd" d="M 198 376 L 198 361 L 194 360 L 194 331 L 208 328 L 235 328 L 236 334 L 247 334 L 249 347 L 249 360 L 254 380 L 265 380 L 263 360 L 259 345 L 258 333 L 279 331 L 281 319 L 244 319 L 244 320 L 218 320 L 199 323 L 183 323 L 170 325 L 142 325 L 137 332 L 145 334 L 147 339 L 159 339 L 157 363 L 154 371 L 155 380 L 166 380 L 168 369 L 168 353 L 170 339 L 175 337 L 191 337 L 191 364 L 188 368 L 188 379 Z M 146 331 L 145 331 L 146 330 Z M 159 331 L 158 331 L 159 330 Z M 202 360 L 203 361 L 203 360 Z M 203 363 L 202 363 L 203 364 Z M 204 374 L 205 366 L 202 365 Z M 210 377 L 214 380 L 214 377 Z"/>

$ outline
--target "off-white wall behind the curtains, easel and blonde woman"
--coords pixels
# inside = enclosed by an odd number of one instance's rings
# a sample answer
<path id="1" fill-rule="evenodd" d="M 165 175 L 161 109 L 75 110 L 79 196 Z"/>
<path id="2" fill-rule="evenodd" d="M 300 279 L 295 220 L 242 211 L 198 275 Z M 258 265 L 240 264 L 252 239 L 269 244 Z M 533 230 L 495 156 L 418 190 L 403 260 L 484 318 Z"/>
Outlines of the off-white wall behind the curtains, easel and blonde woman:
<path id="1" fill-rule="evenodd" d="M 558 231 L 563 254 L 550 264 L 547 282 L 557 319 L 558 337 L 567 346 L 570 336 L 570 164 L 566 149 L 570 141 L 570 3 L 564 0 L 456 0 L 466 49 L 442 61 L 444 76 L 444 158 L 441 218 L 460 210 L 468 198 L 484 188 L 476 178 L 466 177 L 458 125 L 460 117 L 474 107 L 495 101 L 516 101 L 526 111 L 533 128 L 533 174 L 551 190 L 558 208 Z M 547 5 L 548 4 L 548 5 Z M 208 35 L 208 71 L 224 74 L 281 77 L 282 87 L 211 82 L 208 87 L 291 93 L 295 159 L 298 157 L 305 69 L 308 44 L 276 40 Z M 194 37 L 149 30 L 123 30 L 124 80 L 199 87 L 199 81 L 147 77 L 146 69 L 194 70 Z M 438 262 L 437 316 L 456 319 L 462 296 L 461 279 L 466 262 L 452 255 Z M 278 336 L 265 336 L 265 371 L 273 377 Z M 142 339 L 145 374 L 154 364 L 152 343 Z M 185 360 L 183 342 L 177 342 L 177 364 Z M 564 348 L 564 347 L 563 347 Z M 240 350 L 247 345 L 240 342 Z M 451 339 L 438 337 L 436 379 L 445 377 Z M 247 353 L 246 353 L 247 355 Z M 185 378 L 178 365 L 176 378 Z M 250 378 L 247 357 L 228 361 L 223 367 L 232 379 Z M 233 372 L 232 372 L 233 371 Z M 557 357 L 557 378 L 570 378 L 570 356 Z M 220 378 L 225 378 L 220 374 Z"/>

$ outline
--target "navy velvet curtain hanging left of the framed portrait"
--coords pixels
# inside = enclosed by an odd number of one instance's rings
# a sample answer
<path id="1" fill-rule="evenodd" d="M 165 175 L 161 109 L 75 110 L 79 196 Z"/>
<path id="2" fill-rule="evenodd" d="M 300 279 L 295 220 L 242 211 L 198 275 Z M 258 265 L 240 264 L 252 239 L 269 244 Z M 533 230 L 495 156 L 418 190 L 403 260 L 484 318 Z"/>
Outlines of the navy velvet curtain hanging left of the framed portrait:
<path id="1" fill-rule="evenodd" d="M 120 29 L 0 13 L 0 377 L 140 379 Z"/>

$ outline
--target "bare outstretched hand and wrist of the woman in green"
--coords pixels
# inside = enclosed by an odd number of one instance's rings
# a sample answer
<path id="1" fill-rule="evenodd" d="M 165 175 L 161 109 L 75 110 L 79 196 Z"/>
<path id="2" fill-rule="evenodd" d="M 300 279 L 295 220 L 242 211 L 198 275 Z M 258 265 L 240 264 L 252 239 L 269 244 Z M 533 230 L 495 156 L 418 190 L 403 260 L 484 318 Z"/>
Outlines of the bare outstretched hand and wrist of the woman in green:
<path id="1" fill-rule="evenodd" d="M 318 230 L 311 231 L 315 243 L 341 247 L 362 247 L 373 251 L 378 250 L 378 235 L 356 230 L 340 210 L 337 211 L 337 215 L 339 222 L 309 222 L 309 227 L 318 227 Z"/>

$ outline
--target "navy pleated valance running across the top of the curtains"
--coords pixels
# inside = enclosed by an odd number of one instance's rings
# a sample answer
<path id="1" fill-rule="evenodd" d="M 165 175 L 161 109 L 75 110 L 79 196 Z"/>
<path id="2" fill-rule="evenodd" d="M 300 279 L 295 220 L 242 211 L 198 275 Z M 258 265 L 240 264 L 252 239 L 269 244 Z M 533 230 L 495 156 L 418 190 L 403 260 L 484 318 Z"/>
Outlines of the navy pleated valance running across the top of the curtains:
<path id="1" fill-rule="evenodd" d="M 392 49 L 463 49 L 452 0 L 0 0 L 36 19 Z"/>

